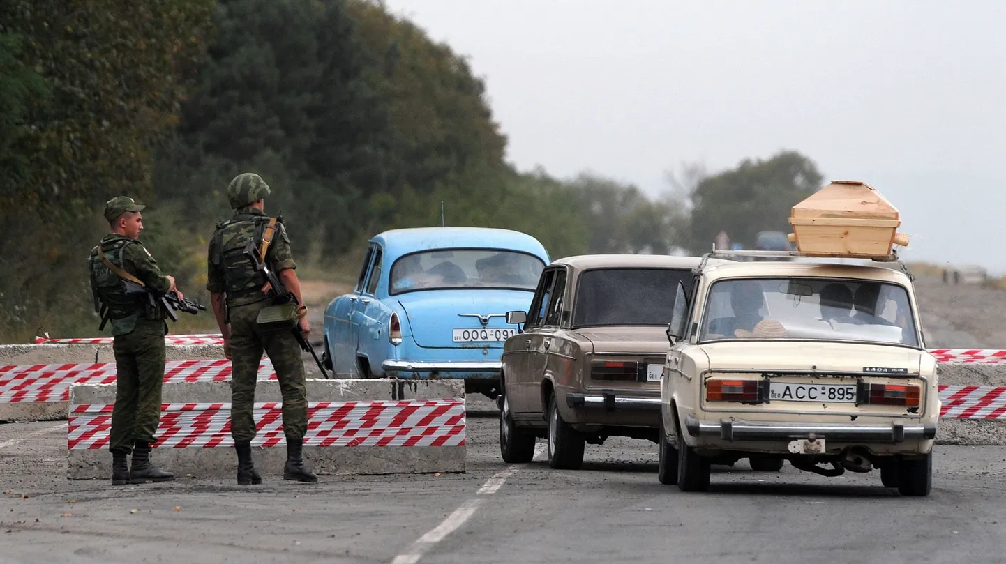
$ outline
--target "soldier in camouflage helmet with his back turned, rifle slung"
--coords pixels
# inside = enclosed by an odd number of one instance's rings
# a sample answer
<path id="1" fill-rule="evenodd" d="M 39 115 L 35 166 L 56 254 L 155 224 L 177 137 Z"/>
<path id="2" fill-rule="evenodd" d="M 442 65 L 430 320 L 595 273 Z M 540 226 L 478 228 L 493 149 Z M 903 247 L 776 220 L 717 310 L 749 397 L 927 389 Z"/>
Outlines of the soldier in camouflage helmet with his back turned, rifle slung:
<path id="1" fill-rule="evenodd" d="M 302 457 L 308 403 L 301 348 L 292 332 L 263 331 L 257 325 L 259 312 L 272 306 L 273 300 L 268 295 L 267 280 L 243 254 L 249 239 L 255 239 L 257 250 L 262 246 L 263 234 L 271 219 L 263 211 L 264 198 L 269 194 L 269 185 L 257 174 L 243 173 L 231 180 L 227 186 L 227 200 L 235 210 L 234 215 L 216 226 L 207 255 L 206 290 L 211 294 L 213 314 L 223 335 L 224 354 L 231 359 L 230 433 L 237 452 L 237 484 L 240 485 L 262 483 L 252 460 L 252 439 L 257 433 L 255 388 L 263 350 L 273 361 L 283 394 L 283 430 L 287 438 L 283 478 L 318 481 Z M 303 304 L 290 238 L 279 218 L 266 263 Z M 305 335 L 311 331 L 306 314 L 307 309 L 302 306 L 299 323 Z"/>

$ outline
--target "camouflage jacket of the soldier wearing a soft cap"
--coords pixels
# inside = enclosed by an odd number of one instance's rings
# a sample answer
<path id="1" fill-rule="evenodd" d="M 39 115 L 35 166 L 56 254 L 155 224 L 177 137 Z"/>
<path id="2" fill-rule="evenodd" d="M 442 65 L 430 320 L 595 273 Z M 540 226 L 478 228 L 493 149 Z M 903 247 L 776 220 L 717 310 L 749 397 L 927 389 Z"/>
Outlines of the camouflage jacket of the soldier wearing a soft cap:
<path id="1" fill-rule="evenodd" d="M 139 278 L 150 290 L 164 294 L 171 288 L 171 281 L 139 240 L 116 233 L 105 235 L 98 246 L 91 249 L 88 266 L 93 288 L 102 304 L 109 308 L 112 335 L 118 337 L 131 333 L 141 317 L 163 320 L 162 312 L 147 312 L 146 297 L 126 295 L 122 279 L 98 255 L 99 246 L 109 261 Z M 163 324 L 160 321 L 160 325 Z"/>

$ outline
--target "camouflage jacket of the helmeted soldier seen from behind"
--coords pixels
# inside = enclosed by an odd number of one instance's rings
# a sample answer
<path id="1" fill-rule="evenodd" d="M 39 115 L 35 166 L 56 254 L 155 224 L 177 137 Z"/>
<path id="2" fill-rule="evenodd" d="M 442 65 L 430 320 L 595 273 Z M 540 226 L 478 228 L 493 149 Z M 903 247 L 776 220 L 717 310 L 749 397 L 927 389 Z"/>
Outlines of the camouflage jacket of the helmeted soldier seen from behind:
<path id="1" fill-rule="evenodd" d="M 226 293 L 228 308 L 269 299 L 262 293 L 266 280 L 243 252 L 249 238 L 255 238 L 256 248 L 261 246 L 263 231 L 270 219 L 262 210 L 238 208 L 233 217 L 217 225 L 213 232 L 206 256 L 206 290 L 213 294 Z M 290 238 L 281 221 L 277 221 L 266 262 L 275 272 L 297 267 Z"/>

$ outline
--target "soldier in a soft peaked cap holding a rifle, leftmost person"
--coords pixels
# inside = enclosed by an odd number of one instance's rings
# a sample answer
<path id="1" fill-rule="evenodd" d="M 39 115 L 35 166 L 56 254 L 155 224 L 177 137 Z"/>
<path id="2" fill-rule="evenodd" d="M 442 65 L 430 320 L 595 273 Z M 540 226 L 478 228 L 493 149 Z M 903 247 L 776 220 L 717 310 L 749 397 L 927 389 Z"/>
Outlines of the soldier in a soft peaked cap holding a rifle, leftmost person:
<path id="1" fill-rule="evenodd" d="M 88 265 L 95 298 L 108 310 L 116 356 L 116 402 L 112 410 L 109 449 L 112 484 L 174 480 L 150 460 L 151 444 L 161 420 L 164 383 L 165 313 L 151 308 L 142 294 L 127 294 L 124 279 L 140 281 L 158 294 L 177 292 L 175 278 L 161 272 L 150 251 L 138 240 L 145 205 L 118 196 L 105 205 L 111 233 L 91 250 Z M 178 297 L 182 294 L 178 292 Z M 104 324 L 103 324 L 104 325 Z M 127 457 L 132 452 L 132 464 Z"/>

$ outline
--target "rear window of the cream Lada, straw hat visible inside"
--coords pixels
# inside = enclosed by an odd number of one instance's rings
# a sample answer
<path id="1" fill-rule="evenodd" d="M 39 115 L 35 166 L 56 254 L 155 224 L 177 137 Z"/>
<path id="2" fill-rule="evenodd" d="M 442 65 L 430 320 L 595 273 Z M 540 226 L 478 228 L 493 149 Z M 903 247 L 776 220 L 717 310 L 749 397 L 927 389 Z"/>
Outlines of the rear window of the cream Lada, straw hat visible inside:
<path id="1" fill-rule="evenodd" d="M 904 287 L 833 278 L 725 279 L 712 285 L 699 341 L 853 341 L 918 346 Z"/>

